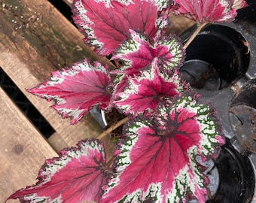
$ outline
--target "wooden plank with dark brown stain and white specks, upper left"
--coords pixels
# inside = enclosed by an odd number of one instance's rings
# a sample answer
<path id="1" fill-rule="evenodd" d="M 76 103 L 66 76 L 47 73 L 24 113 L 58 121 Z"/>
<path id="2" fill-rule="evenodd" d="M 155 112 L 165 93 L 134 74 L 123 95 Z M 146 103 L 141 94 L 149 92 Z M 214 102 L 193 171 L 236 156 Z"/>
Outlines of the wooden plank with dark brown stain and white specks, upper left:
<path id="1" fill-rule="evenodd" d="M 102 129 L 88 116 L 75 126 L 62 120 L 49 104 L 26 92 L 50 76 L 50 71 L 84 57 L 99 59 L 84 45 L 83 35 L 49 2 L 2 1 L 0 7 L 0 66 L 45 117 L 67 146 L 95 138 Z M 102 59 L 104 60 L 104 59 Z"/>

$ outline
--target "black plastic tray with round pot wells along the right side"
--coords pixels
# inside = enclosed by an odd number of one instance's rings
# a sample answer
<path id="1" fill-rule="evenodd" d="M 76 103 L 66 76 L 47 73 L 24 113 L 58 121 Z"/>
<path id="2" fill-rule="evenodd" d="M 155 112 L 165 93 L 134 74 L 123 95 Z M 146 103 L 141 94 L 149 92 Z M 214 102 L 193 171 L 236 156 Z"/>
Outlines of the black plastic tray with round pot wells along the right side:
<path id="1" fill-rule="evenodd" d="M 218 181 L 206 202 L 256 202 L 256 8 L 254 0 L 248 4 L 235 23 L 203 29 L 187 47 L 180 69 L 200 98 L 218 111 L 226 138 L 207 174 Z M 194 29 L 181 39 L 187 41 Z"/>

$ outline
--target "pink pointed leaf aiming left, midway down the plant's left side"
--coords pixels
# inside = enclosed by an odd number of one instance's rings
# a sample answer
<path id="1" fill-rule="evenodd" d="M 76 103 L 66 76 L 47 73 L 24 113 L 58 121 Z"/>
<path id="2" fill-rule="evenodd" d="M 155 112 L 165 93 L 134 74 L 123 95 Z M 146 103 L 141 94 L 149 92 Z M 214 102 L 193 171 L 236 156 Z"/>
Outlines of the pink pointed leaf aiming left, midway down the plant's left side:
<path id="1" fill-rule="evenodd" d="M 105 109 L 109 105 L 110 76 L 99 62 L 75 63 L 72 68 L 55 71 L 46 82 L 28 91 L 47 101 L 53 100 L 63 118 L 71 117 L 71 123 L 78 123 L 95 105 Z"/>

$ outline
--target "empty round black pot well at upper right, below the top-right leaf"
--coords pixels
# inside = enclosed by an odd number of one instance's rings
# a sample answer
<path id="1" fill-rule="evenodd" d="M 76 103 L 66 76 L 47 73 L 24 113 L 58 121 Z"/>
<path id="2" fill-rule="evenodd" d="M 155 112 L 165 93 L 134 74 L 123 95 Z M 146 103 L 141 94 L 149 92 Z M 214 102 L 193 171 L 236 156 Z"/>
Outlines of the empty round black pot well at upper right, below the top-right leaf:
<path id="1" fill-rule="evenodd" d="M 249 52 L 245 38 L 235 29 L 210 25 L 187 47 L 181 72 L 199 92 L 223 89 L 245 75 Z"/>

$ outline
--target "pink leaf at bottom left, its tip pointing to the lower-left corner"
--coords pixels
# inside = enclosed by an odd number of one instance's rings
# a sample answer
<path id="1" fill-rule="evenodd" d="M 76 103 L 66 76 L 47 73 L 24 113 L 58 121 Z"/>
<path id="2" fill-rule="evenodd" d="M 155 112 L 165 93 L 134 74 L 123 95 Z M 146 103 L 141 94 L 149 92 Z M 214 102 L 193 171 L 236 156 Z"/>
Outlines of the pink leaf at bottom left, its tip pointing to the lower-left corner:
<path id="1" fill-rule="evenodd" d="M 102 142 L 80 141 L 78 148 L 62 150 L 58 158 L 47 159 L 38 174 L 38 183 L 12 194 L 21 202 L 99 201 L 106 181 Z"/>

